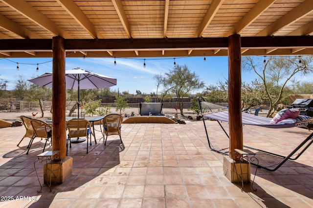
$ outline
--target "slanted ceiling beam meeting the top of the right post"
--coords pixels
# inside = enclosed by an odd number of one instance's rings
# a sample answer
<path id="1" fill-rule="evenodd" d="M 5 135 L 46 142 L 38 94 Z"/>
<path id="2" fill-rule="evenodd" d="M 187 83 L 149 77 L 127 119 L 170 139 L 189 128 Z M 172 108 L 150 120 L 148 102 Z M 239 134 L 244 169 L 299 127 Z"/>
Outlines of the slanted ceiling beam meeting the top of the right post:
<path id="1" fill-rule="evenodd" d="M 233 34 L 239 34 L 247 26 L 249 26 L 255 19 L 260 17 L 260 15 L 270 7 L 275 0 L 259 0 L 246 15 L 240 19 L 233 28 L 225 35 L 225 37 L 231 36 Z"/>

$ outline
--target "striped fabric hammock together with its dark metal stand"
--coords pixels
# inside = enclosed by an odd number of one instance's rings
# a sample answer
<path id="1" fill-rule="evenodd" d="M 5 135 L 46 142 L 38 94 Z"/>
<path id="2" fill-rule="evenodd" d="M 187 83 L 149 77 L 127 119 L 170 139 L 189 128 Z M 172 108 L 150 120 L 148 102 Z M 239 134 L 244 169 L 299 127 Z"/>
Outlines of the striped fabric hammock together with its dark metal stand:
<path id="1" fill-rule="evenodd" d="M 213 148 L 213 146 L 211 145 L 209 136 L 208 136 L 208 132 L 205 126 L 205 118 L 210 118 L 213 120 L 216 120 L 220 127 L 222 128 L 222 130 L 224 131 L 224 133 L 227 135 L 227 137 L 229 138 L 229 135 L 227 134 L 227 132 L 224 130 L 223 126 L 221 125 L 220 121 L 225 121 L 228 122 L 228 110 L 222 110 L 223 107 L 220 106 L 220 108 L 211 108 L 213 105 L 205 102 L 203 97 L 198 97 L 198 101 L 199 101 L 199 105 L 200 105 L 200 109 L 201 109 L 201 114 L 202 114 L 202 120 L 203 120 L 203 125 L 204 125 L 204 129 L 205 129 L 205 133 L 206 133 L 206 137 L 207 137 L 207 141 L 209 144 L 209 148 L 212 151 L 216 151 L 218 153 L 224 154 L 224 155 L 229 155 L 227 152 L 224 151 L 224 149 L 222 150 L 217 150 L 215 148 Z M 210 106 L 207 107 L 207 106 Z M 215 105 L 216 107 L 216 105 Z M 312 124 L 313 123 L 313 117 L 310 118 L 308 116 L 302 115 L 299 116 L 298 119 L 285 119 L 282 120 L 281 122 L 278 122 L 277 124 L 272 124 L 269 123 L 269 121 L 271 120 L 271 118 L 266 118 L 266 117 L 260 117 L 260 116 L 256 116 L 256 115 L 251 115 L 248 113 L 242 113 L 242 122 L 243 125 L 257 125 L 257 126 L 263 126 L 263 127 L 268 127 L 268 128 L 288 128 L 288 127 L 295 127 L 295 126 L 300 126 L 300 125 L 304 125 L 306 126 L 307 124 Z M 290 154 L 288 154 L 287 156 L 283 156 L 283 155 L 279 155 L 273 152 L 269 152 L 269 151 L 264 151 L 264 150 L 260 150 L 260 149 L 256 149 L 253 147 L 248 147 L 245 146 L 246 148 L 255 150 L 255 151 L 260 151 L 263 153 L 267 153 L 273 156 L 277 156 L 277 157 L 281 157 L 283 158 L 283 160 L 277 164 L 277 166 L 273 169 L 270 169 L 268 167 L 264 167 L 261 166 L 259 164 L 255 164 L 253 162 L 250 162 L 252 165 L 257 166 L 258 168 L 262 168 L 265 170 L 269 170 L 269 171 L 275 171 L 277 170 L 279 167 L 281 167 L 287 160 L 296 160 L 297 158 L 299 158 L 299 156 L 306 151 L 306 149 L 313 143 L 313 133 L 311 133 L 307 138 L 304 139 L 304 141 L 299 144 L 293 151 L 291 151 Z M 311 141 L 310 141 L 311 140 Z M 305 147 L 304 145 L 308 143 Z M 303 149 L 297 154 L 297 156 L 291 158 L 297 151 L 299 151 L 301 148 L 303 147 Z"/>

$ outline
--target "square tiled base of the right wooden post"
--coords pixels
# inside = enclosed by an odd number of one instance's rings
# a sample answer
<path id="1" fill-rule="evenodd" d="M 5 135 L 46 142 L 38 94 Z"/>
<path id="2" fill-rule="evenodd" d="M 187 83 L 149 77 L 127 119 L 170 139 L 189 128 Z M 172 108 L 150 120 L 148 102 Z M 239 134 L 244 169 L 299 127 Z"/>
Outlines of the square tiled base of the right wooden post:
<path id="1" fill-rule="evenodd" d="M 232 183 L 241 183 L 241 177 L 244 183 L 250 183 L 250 163 L 246 160 L 239 163 L 238 160 L 234 162 L 228 155 L 224 156 L 223 170 L 226 178 Z"/>

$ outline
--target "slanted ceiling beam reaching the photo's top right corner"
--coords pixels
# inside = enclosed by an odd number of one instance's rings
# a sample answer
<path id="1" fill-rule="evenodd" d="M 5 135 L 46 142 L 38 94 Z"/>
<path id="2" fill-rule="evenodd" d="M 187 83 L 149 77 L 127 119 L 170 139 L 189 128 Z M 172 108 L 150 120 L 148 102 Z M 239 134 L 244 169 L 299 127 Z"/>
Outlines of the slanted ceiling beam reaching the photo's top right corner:
<path id="1" fill-rule="evenodd" d="M 306 0 L 296 8 L 292 9 L 285 16 L 276 20 L 267 28 L 259 32 L 256 36 L 272 36 L 275 33 L 277 33 L 277 31 L 281 30 L 284 27 L 287 27 L 288 25 L 291 25 L 292 23 L 298 21 L 299 19 L 308 15 L 312 11 L 313 11 L 313 0 Z"/>

